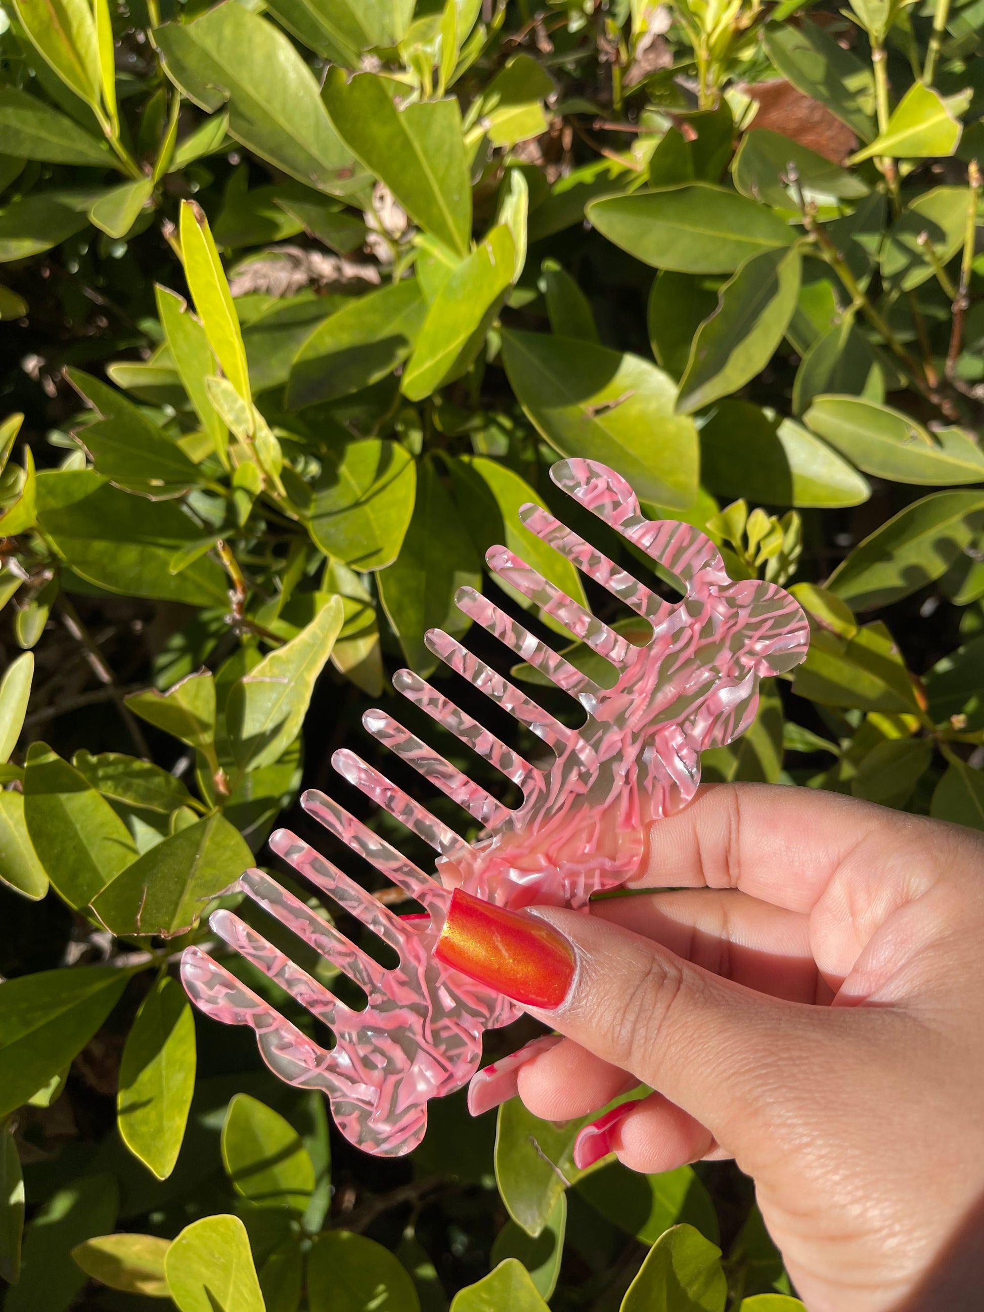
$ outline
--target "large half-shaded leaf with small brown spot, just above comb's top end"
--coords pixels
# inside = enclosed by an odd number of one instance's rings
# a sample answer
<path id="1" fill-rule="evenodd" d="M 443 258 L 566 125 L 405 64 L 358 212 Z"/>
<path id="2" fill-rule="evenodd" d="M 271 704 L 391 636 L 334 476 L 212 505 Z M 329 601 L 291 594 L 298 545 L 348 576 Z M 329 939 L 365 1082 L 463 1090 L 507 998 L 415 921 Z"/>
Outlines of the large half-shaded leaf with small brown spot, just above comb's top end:
<path id="1" fill-rule="evenodd" d="M 644 501 L 697 500 L 694 422 L 673 412 L 676 388 L 649 361 L 546 333 L 502 333 L 502 361 L 520 404 L 560 453 L 618 470 Z"/>

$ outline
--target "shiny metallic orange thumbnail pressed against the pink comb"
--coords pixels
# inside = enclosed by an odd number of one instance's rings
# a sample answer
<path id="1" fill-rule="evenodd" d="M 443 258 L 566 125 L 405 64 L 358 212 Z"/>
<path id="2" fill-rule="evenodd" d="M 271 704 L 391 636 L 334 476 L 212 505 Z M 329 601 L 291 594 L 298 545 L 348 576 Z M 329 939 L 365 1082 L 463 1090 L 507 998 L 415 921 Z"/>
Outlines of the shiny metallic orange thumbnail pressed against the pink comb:
<path id="1" fill-rule="evenodd" d="M 493 907 L 455 888 L 434 956 L 522 1006 L 551 1010 L 567 997 L 573 949 L 538 916 Z"/>

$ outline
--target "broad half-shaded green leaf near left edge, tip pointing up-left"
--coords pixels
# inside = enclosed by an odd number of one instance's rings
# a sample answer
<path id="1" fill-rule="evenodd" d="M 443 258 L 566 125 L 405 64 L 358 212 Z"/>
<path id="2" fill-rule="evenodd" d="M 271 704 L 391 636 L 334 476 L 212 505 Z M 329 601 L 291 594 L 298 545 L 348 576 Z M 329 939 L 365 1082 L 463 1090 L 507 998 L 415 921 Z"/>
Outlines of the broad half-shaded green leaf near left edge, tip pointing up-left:
<path id="1" fill-rule="evenodd" d="M 115 811 L 46 743 L 28 749 L 24 816 L 49 879 L 70 907 L 85 907 L 136 857 Z"/>

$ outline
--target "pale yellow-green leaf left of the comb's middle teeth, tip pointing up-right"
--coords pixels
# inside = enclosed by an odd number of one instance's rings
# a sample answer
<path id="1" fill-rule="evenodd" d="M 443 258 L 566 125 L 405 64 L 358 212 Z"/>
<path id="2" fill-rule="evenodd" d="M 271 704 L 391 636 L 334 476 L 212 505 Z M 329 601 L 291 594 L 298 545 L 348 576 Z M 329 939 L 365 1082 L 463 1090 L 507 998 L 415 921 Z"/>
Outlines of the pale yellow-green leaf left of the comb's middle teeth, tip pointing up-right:
<path id="1" fill-rule="evenodd" d="M 226 727 L 240 769 L 272 765 L 298 736 L 342 619 L 341 598 L 332 597 L 297 638 L 232 685 Z"/>

